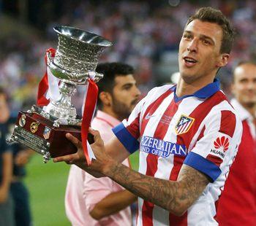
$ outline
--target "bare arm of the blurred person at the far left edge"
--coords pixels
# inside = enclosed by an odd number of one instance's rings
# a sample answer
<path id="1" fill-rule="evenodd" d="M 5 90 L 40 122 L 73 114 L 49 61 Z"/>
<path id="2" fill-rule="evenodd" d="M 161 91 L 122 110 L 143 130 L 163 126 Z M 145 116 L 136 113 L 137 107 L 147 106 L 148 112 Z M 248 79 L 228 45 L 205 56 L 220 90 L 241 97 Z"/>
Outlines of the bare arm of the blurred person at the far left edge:
<path id="1" fill-rule="evenodd" d="M 2 154 L 2 160 L 3 171 L 0 185 L 0 203 L 3 203 L 8 196 L 8 191 L 12 179 L 12 152 L 4 152 Z"/>

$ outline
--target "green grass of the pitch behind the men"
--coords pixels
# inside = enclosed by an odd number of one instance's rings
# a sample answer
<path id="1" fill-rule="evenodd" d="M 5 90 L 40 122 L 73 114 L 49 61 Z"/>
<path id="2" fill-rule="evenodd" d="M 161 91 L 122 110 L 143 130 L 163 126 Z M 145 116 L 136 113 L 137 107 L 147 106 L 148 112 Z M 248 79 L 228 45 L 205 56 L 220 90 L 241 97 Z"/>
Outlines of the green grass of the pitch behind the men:
<path id="1" fill-rule="evenodd" d="M 138 152 L 130 156 L 132 168 L 138 170 Z M 42 155 L 35 154 L 27 165 L 25 183 L 29 188 L 34 226 L 70 225 L 64 208 L 64 195 L 69 165 L 42 163 Z"/>

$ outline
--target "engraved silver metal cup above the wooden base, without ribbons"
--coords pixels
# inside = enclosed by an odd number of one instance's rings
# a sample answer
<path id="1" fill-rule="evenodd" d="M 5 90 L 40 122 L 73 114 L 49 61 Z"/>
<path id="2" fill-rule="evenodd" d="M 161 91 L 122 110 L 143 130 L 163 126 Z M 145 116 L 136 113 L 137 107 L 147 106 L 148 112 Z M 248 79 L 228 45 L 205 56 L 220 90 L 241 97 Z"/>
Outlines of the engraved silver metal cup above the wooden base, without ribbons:
<path id="1" fill-rule="evenodd" d="M 96 82 L 103 77 L 95 69 L 103 50 L 112 43 L 102 36 L 77 28 L 60 26 L 55 27 L 54 31 L 59 35 L 59 45 L 54 59 L 48 55 L 48 66 L 53 75 L 61 79 L 61 98 L 56 102 L 51 101 L 46 112 L 72 124 L 77 116 L 71 104 L 75 87 L 85 85 L 90 73 L 95 73 Z"/>

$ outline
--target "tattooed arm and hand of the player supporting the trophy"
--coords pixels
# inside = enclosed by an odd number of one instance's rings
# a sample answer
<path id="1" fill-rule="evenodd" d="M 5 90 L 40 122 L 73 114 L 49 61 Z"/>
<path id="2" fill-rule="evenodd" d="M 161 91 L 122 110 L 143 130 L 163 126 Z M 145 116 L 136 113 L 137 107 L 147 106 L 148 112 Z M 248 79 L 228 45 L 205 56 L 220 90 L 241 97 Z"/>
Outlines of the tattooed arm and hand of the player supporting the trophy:
<path id="1" fill-rule="evenodd" d="M 82 166 L 84 170 L 87 172 L 96 171 L 99 174 L 109 176 L 133 194 L 148 200 L 173 214 L 178 216 L 184 214 L 189 206 L 191 206 L 202 194 L 208 182 L 210 182 L 208 176 L 188 165 L 183 165 L 181 167 L 177 182 L 157 179 L 152 176 L 146 176 L 136 171 L 132 171 L 107 154 L 113 153 L 113 150 L 118 150 L 117 147 L 112 144 L 109 146 L 106 145 L 105 150 L 99 132 L 96 130 L 90 130 L 90 132 L 94 135 L 95 142 L 91 145 L 91 148 L 94 151 L 96 160 L 92 160 L 91 165 L 88 167 L 88 165 L 85 166 L 83 157 Z M 54 162 L 65 161 L 66 163 L 80 164 L 78 155 L 83 155 L 83 152 L 80 150 L 80 141 L 72 135 L 67 135 L 67 138 L 78 147 L 78 152 L 73 155 L 57 157 L 54 159 Z M 117 141 L 115 142 L 118 144 Z M 74 157 L 74 155 L 76 156 Z"/>

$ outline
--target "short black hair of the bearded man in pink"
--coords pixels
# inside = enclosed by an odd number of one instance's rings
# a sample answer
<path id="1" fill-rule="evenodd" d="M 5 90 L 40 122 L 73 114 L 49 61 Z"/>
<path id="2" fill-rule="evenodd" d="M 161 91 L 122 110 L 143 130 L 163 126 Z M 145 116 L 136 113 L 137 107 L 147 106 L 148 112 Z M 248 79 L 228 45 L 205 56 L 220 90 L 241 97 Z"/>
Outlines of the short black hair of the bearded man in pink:
<path id="1" fill-rule="evenodd" d="M 135 70 L 132 66 L 126 63 L 113 62 L 113 63 L 99 63 L 96 71 L 103 74 L 103 79 L 97 82 L 99 87 L 99 93 L 108 92 L 113 94 L 113 87 L 115 84 L 115 78 L 118 76 L 127 76 L 128 74 L 134 74 Z M 102 101 L 100 101 L 98 96 L 98 106 L 102 109 Z"/>

